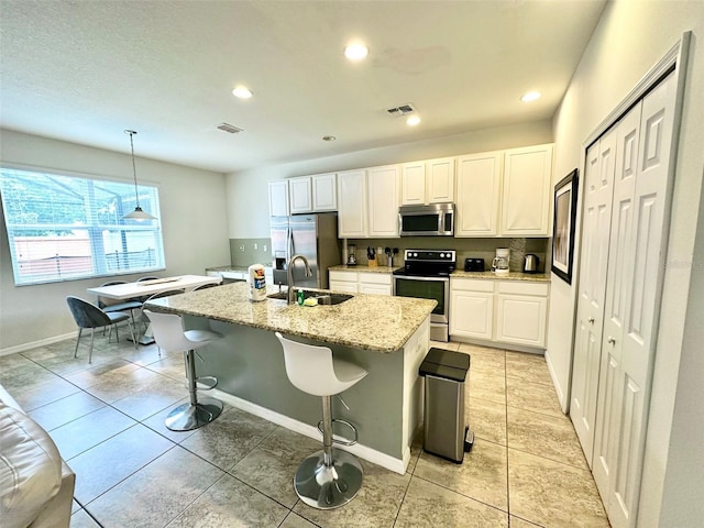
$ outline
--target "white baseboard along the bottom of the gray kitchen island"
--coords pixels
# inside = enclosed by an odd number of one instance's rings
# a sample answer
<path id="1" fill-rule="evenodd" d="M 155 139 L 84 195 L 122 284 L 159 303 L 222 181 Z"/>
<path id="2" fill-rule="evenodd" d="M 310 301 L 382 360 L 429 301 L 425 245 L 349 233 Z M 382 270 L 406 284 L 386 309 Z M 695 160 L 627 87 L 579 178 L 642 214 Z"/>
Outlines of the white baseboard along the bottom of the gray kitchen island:
<path id="1" fill-rule="evenodd" d="M 295 420 L 288 416 L 267 409 L 266 407 L 262 407 L 260 405 L 248 402 L 246 399 L 242 399 L 237 396 L 232 396 L 231 394 L 223 393 L 222 391 L 218 391 L 217 388 L 213 389 L 212 393 L 216 398 L 221 399 L 222 402 L 231 405 L 232 407 L 237 407 L 238 409 L 242 409 L 254 416 L 264 418 L 265 420 L 268 420 L 273 424 L 285 427 L 286 429 L 290 429 L 292 431 L 296 431 L 308 438 L 312 438 L 314 440 L 320 440 L 320 441 L 322 440 L 320 437 L 320 431 L 318 431 L 318 428 L 315 426 L 309 426 L 308 424 L 304 424 L 301 421 Z M 369 462 L 372 462 L 376 465 L 381 465 L 382 468 L 386 468 L 387 470 L 402 475 L 406 473 L 406 468 L 408 466 L 408 462 L 410 461 L 409 447 L 407 447 L 404 450 L 403 460 L 395 459 L 394 457 L 382 453 L 381 451 L 376 451 L 375 449 L 369 448 L 361 443 L 356 443 L 354 446 L 338 444 L 336 446 L 336 448 L 342 449 L 344 451 L 349 451 L 350 453 L 359 457 L 360 459 L 364 459 Z"/>

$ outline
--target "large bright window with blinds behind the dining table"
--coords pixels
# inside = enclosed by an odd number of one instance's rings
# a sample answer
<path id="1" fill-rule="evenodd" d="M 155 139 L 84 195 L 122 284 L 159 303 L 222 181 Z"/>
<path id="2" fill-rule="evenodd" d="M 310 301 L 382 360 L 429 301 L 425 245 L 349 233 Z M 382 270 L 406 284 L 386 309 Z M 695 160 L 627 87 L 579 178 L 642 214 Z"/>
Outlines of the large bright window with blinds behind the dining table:
<path id="1" fill-rule="evenodd" d="M 156 220 L 130 220 L 134 185 L 0 167 L 16 285 L 163 270 L 157 188 L 138 187 Z"/>

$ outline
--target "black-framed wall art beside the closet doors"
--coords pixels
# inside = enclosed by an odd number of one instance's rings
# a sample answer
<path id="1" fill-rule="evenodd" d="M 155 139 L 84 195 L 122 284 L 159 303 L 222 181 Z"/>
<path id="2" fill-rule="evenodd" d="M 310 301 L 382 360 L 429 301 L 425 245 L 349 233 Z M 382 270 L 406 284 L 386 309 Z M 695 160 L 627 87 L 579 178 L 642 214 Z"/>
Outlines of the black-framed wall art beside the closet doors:
<path id="1" fill-rule="evenodd" d="M 551 270 L 568 284 L 572 284 L 578 180 L 575 168 L 554 186 Z"/>

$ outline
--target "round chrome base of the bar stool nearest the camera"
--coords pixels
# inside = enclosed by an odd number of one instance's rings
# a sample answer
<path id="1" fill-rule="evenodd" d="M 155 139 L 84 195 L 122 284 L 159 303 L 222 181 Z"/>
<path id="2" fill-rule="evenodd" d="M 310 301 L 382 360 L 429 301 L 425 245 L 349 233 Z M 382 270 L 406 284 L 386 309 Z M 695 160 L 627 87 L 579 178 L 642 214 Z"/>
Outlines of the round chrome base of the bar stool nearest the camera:
<path id="1" fill-rule="evenodd" d="M 356 457 L 345 451 L 332 449 L 331 466 L 326 466 L 324 455 L 322 450 L 302 461 L 294 475 L 294 490 L 308 506 L 339 508 L 360 492 L 364 471 Z"/>

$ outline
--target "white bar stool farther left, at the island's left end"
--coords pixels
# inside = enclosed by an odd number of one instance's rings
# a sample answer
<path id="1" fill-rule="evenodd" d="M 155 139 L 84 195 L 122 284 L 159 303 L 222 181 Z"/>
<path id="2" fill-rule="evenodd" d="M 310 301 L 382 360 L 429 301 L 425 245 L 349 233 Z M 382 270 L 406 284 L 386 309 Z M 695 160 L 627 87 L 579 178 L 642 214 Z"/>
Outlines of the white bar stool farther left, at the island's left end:
<path id="1" fill-rule="evenodd" d="M 166 417 L 165 424 L 172 431 L 190 431 L 213 421 L 222 413 L 222 402 L 216 398 L 198 400 L 196 383 L 206 381 L 196 376 L 196 350 L 208 343 L 222 339 L 223 336 L 211 330 L 186 330 L 180 316 L 174 314 L 157 314 L 144 310 L 144 315 L 152 322 L 154 341 L 160 349 L 168 352 L 184 352 L 186 363 L 186 381 L 190 403 L 180 405 Z M 218 380 L 208 376 L 211 383 L 207 388 L 215 388 Z"/>

